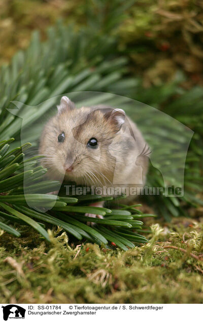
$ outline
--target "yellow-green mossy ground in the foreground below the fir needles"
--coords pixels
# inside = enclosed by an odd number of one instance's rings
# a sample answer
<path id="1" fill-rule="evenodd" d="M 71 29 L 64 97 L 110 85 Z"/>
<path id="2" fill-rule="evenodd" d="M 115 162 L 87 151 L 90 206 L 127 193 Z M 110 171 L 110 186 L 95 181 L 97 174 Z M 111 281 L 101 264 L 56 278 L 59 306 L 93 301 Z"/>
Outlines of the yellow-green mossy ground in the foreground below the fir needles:
<path id="1" fill-rule="evenodd" d="M 127 252 L 70 246 L 56 231 L 52 245 L 27 227 L 3 233 L 0 302 L 203 303 L 203 221 L 156 221 L 150 243 Z"/>

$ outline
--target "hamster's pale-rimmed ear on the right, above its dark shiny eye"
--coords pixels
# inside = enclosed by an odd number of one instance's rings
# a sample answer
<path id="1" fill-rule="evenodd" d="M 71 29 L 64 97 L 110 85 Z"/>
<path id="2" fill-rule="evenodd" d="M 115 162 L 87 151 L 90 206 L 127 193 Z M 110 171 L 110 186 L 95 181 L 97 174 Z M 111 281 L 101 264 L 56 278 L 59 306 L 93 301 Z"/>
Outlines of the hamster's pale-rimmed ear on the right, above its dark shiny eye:
<path id="1" fill-rule="evenodd" d="M 115 133 L 121 129 L 125 122 L 125 112 L 120 108 L 115 108 L 111 112 L 107 112 L 104 117 L 110 123 Z"/>

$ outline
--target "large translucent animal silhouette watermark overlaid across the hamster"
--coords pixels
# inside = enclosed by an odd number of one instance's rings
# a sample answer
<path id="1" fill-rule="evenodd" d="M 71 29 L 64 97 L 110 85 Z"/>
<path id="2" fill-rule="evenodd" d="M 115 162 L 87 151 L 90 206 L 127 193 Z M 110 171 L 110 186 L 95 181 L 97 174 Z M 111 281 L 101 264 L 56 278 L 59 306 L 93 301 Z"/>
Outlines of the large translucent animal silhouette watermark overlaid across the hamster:
<path id="1" fill-rule="evenodd" d="M 7 109 L 22 120 L 21 145 L 27 142 L 27 125 L 32 119 L 38 122 L 33 125 L 38 131 L 34 131 L 30 143 L 36 146 L 41 139 L 39 153 L 40 157 L 44 155 L 41 164 L 47 169 L 47 177 L 57 181 L 52 202 L 46 207 L 39 205 L 41 212 L 53 208 L 62 182 L 75 182 L 77 195 L 83 194 L 83 187 L 95 186 L 96 195 L 105 195 L 104 191 L 110 196 L 120 195 L 120 189 L 129 188 L 129 195 L 134 196 L 183 196 L 185 162 L 192 130 L 156 108 L 123 96 L 82 91 L 65 95 L 70 99 L 59 95 L 36 106 L 12 101 L 16 108 Z M 80 109 L 77 110 L 71 99 Z M 83 104 L 87 102 L 93 106 L 88 103 L 89 107 L 85 107 Z M 47 112 L 43 119 L 39 118 L 39 110 Z M 68 124 L 63 119 L 66 114 L 70 115 Z M 49 126 L 53 129 L 58 120 L 65 122 L 62 132 L 55 129 L 50 136 L 44 124 L 47 118 L 50 118 Z M 43 129 L 45 132 L 41 135 Z M 30 156 L 28 153 L 23 157 L 24 170 L 30 170 L 25 163 Z M 26 197 L 34 178 L 35 175 L 24 176 L 23 189 L 27 205 L 36 209 L 36 202 Z M 43 183 L 45 178 L 38 179 Z M 112 188 L 116 193 L 112 193 Z M 35 193 L 42 192 L 41 185 L 36 186 Z M 45 187 L 44 193 L 47 192 Z M 128 196 L 127 191 L 121 194 Z"/>

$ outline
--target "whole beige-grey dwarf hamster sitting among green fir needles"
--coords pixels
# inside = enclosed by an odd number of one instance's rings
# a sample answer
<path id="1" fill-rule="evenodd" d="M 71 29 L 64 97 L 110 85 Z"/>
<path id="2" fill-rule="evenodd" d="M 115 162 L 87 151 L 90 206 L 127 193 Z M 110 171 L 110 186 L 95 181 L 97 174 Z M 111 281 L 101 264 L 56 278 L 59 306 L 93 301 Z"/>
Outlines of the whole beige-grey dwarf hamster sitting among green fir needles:
<path id="1" fill-rule="evenodd" d="M 105 105 L 78 109 L 66 96 L 57 108 L 40 139 L 39 152 L 45 155 L 42 165 L 49 179 L 107 188 L 145 184 L 148 158 L 144 156 L 149 147 L 122 109 Z M 135 197 L 123 200 L 128 203 Z M 103 207 L 103 202 L 92 206 Z"/>

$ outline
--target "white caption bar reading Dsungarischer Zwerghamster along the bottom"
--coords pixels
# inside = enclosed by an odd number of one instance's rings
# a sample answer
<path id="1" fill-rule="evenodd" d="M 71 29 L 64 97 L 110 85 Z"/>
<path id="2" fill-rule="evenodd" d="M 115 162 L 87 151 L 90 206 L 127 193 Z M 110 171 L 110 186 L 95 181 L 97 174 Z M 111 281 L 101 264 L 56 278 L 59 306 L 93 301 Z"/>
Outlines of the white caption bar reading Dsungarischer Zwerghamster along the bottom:
<path id="1" fill-rule="evenodd" d="M 25 321 L 132 321 L 191 322 L 202 316 L 203 304 L 1 304 L 0 320 Z"/>

